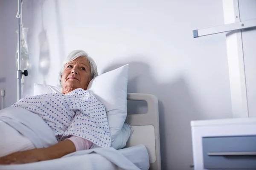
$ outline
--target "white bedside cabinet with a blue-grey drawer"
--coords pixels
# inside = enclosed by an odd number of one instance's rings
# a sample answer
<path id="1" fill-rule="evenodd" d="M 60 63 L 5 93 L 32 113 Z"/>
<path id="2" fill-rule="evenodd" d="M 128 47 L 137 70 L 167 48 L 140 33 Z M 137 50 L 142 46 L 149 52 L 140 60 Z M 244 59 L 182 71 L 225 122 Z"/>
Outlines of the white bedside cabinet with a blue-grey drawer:
<path id="1" fill-rule="evenodd" d="M 191 121 L 194 170 L 256 170 L 256 118 Z"/>

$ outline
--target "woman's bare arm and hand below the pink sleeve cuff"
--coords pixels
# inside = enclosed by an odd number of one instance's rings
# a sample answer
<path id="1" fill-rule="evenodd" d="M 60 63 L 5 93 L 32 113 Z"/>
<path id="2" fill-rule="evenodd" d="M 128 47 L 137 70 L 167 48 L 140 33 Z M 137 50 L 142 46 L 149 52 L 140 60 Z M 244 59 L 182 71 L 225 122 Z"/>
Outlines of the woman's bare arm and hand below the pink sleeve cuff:
<path id="1" fill-rule="evenodd" d="M 25 164 L 37 161 L 61 158 L 75 152 L 76 147 L 70 140 L 65 140 L 51 147 L 15 152 L 0 158 L 0 164 Z"/>

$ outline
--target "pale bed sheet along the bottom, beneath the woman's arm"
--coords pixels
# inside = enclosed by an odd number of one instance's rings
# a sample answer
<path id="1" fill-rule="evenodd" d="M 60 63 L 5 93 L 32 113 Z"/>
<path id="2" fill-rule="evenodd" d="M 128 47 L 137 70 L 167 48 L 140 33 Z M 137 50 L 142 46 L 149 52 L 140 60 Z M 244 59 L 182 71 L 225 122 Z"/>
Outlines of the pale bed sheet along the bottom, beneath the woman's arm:
<path id="1" fill-rule="evenodd" d="M 102 149 L 102 148 L 101 148 Z M 106 149 L 108 150 L 108 149 Z M 111 151 L 112 150 L 112 151 Z M 106 152 L 104 149 L 101 154 L 91 153 L 84 154 L 89 150 L 78 151 L 67 155 L 60 159 L 54 159 L 49 161 L 41 161 L 30 164 L 18 164 L 18 165 L 0 165 L 0 170 L 120 170 L 126 167 L 125 169 L 137 169 L 148 170 L 149 169 L 149 159 L 148 152 L 146 147 L 143 144 L 136 145 L 129 148 L 124 148 L 121 150 L 114 150 L 113 148 L 109 149 L 110 152 Z M 116 157 L 115 152 L 119 152 L 122 156 Z M 100 152 L 99 152 L 100 153 Z M 109 161 L 112 157 L 112 162 Z M 115 161 L 113 161 L 113 159 Z M 125 161 L 125 159 L 127 161 Z M 123 162 L 124 164 L 122 164 Z M 130 164 L 132 162 L 133 164 Z M 120 166 L 120 163 L 122 166 Z M 119 164 L 119 166 L 116 166 Z M 135 166 L 132 167 L 132 166 Z"/>

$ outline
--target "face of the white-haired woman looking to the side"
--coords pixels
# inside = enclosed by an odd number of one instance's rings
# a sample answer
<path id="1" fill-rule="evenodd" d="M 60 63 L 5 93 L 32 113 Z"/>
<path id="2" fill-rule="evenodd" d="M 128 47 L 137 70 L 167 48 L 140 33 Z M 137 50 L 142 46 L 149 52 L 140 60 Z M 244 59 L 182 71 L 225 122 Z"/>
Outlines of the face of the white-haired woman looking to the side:
<path id="1" fill-rule="evenodd" d="M 76 88 L 87 89 L 90 82 L 90 64 L 86 58 L 78 57 L 68 62 L 61 75 L 62 93 L 67 94 Z"/>

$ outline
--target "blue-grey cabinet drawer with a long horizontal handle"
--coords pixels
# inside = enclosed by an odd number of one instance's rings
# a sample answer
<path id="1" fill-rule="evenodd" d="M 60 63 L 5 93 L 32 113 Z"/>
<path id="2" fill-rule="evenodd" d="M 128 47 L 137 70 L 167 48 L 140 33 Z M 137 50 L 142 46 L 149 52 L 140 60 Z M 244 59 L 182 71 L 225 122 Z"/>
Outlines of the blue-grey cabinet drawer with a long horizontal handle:
<path id="1" fill-rule="evenodd" d="M 203 137 L 204 169 L 256 169 L 256 136 Z"/>

